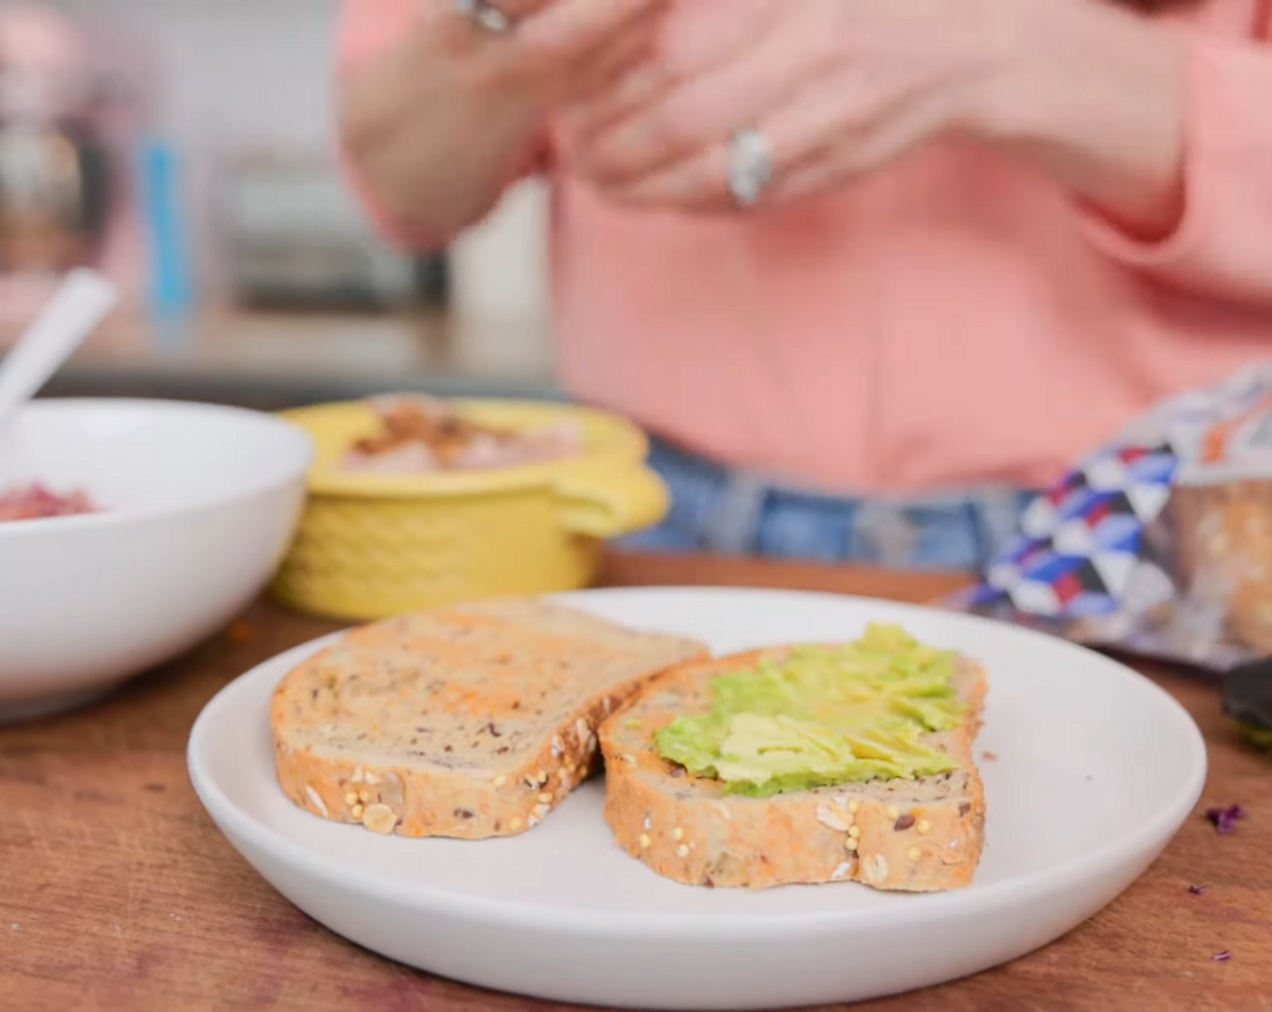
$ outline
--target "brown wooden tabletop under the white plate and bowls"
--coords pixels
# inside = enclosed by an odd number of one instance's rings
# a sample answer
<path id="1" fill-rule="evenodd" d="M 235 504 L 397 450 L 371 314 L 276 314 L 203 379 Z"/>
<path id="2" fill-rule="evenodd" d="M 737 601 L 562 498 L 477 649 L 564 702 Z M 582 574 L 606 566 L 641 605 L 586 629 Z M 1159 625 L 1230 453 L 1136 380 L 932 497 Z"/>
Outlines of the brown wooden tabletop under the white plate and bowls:
<path id="1" fill-rule="evenodd" d="M 611 561 L 612 584 L 757 584 L 922 601 L 949 580 L 709 559 Z M 332 626 L 257 606 L 193 656 L 73 715 L 0 729 L 0 1009 L 547 1012 L 391 964 L 299 913 L 230 849 L 186 777 L 216 690 Z M 873 1012 L 1272 1008 L 1272 760 L 1238 745 L 1213 684 L 1146 668 L 1211 750 L 1202 808 L 1152 869 L 1067 938 Z M 1093 701 L 1098 705 L 1098 700 Z M 1199 810 L 1201 811 L 1201 810 Z M 1191 885 L 1206 885 L 1191 895 Z M 1212 956 L 1227 950 L 1231 960 Z"/>

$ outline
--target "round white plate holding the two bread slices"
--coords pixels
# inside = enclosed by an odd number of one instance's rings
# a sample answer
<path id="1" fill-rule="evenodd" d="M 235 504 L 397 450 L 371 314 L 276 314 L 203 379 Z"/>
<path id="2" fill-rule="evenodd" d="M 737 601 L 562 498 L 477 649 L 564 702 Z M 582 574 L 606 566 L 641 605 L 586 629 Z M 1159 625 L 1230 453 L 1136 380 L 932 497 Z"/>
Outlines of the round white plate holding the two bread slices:
<path id="1" fill-rule="evenodd" d="M 682 886 L 628 858 L 593 783 L 524 836 L 375 836 L 277 787 L 268 701 L 321 644 L 224 689 L 190 771 L 230 841 L 282 895 L 391 959 L 486 988 L 640 1008 L 764 1008 L 937 984 L 1021 956 L 1108 904 L 1192 811 L 1206 748 L 1164 691 L 1099 654 L 1021 629 L 831 594 L 621 589 L 561 598 L 706 639 L 717 652 L 848 639 L 869 620 L 982 659 L 987 844 L 976 883 L 904 896 L 860 885 L 748 894 Z"/>

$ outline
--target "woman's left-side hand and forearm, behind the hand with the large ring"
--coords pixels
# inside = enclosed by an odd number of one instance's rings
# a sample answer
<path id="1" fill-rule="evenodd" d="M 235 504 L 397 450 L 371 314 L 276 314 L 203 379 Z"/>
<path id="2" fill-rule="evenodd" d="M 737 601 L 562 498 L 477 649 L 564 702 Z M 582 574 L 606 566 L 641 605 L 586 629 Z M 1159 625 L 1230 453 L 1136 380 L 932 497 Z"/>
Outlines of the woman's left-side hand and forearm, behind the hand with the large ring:
<path id="1" fill-rule="evenodd" d="M 391 220 L 443 243 L 530 164 L 552 109 L 649 57 L 667 0 L 501 0 L 497 34 L 454 0 L 361 3 L 382 41 L 343 81 L 343 146 Z"/>

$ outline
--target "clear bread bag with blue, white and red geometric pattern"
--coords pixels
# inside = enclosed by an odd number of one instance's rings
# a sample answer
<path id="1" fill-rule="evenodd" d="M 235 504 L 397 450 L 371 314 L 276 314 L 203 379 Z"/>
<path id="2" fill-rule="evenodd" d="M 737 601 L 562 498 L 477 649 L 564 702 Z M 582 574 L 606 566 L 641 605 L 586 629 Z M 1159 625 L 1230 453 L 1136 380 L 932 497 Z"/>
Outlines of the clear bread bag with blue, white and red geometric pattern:
<path id="1" fill-rule="evenodd" d="M 948 603 L 1217 671 L 1272 656 L 1272 363 L 1081 461 Z"/>

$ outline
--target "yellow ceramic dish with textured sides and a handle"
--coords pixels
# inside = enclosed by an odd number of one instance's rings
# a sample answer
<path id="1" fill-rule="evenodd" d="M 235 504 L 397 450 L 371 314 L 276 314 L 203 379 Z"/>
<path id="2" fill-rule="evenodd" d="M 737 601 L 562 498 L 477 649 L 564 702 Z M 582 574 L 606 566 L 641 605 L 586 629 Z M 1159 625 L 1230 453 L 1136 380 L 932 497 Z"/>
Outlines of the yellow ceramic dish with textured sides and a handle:
<path id="1" fill-rule="evenodd" d="M 345 471 L 341 457 L 377 432 L 363 401 L 284 416 L 314 438 L 317 461 L 296 540 L 273 593 L 303 611 L 373 620 L 453 601 L 584 587 L 600 546 L 658 523 L 668 491 L 649 442 L 622 419 L 533 401 L 457 401 L 474 421 L 579 425 L 586 452 L 491 471 L 392 476 Z"/>

